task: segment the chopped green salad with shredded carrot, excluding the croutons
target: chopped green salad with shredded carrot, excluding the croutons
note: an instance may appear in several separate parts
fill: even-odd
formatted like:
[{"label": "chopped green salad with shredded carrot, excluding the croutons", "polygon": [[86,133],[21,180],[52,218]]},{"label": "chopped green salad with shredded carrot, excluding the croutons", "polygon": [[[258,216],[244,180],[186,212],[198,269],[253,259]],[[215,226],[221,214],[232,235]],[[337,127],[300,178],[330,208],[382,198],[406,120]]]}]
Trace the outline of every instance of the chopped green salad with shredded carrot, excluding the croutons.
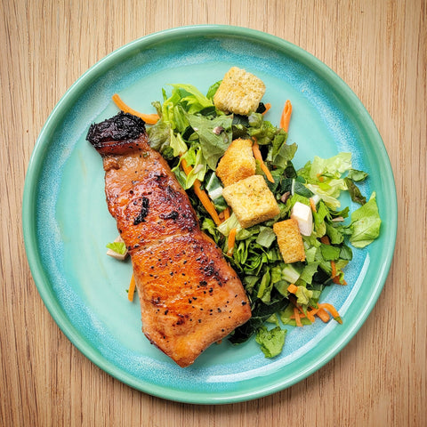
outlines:
[{"label": "chopped green salad with shredded carrot, excluding the croutons", "polygon": [[[264,355],[272,358],[282,351],[286,325],[311,325],[317,318],[342,322],[332,305],[320,302],[322,291],[326,286],[346,285],[344,270],[353,248],[363,248],[379,236],[381,219],[375,192],[368,199],[361,194],[359,182],[367,179],[367,173],[352,168],[350,153],[315,156],[296,169],[297,145],[287,144],[286,131],[265,119],[261,102],[247,116],[215,108],[220,84],[206,94],[193,85],[171,85],[170,93],[163,89],[163,101],[153,102],[159,119],[148,126],[149,143],[171,165],[188,192],[201,229],[222,248],[246,289],[252,318],[230,334],[230,342],[246,342],[254,335]],[[265,178],[279,207],[274,218],[249,228],[242,228],[230,211],[215,173],[231,141],[238,138],[257,142],[262,161],[256,160],[255,174]],[[209,196],[221,223],[206,210],[195,183]],[[359,204],[358,209],[350,212],[349,207],[341,207],[342,191]],[[312,229],[302,236],[305,260],[286,263],[273,225],[289,219],[297,203],[310,207]]]}]

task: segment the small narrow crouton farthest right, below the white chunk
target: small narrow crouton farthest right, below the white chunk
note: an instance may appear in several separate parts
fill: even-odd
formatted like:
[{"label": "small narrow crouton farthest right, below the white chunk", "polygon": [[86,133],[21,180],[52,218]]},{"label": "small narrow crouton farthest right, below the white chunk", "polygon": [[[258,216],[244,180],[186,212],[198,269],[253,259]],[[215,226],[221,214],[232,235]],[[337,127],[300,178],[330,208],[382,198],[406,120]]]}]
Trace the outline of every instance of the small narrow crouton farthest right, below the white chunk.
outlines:
[{"label": "small narrow crouton farthest right, below the white chunk", "polygon": [[273,231],[278,237],[278,247],[286,264],[305,260],[304,243],[296,220],[276,222]]}]

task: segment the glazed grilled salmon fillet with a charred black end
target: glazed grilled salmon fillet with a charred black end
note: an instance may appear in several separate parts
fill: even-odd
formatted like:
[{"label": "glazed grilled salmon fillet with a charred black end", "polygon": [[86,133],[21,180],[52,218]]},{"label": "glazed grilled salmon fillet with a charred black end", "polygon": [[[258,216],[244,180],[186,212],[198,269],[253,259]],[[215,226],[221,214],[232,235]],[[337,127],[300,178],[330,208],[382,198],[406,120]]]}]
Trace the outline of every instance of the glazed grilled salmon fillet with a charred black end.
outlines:
[{"label": "glazed grilled salmon fillet with a charred black end", "polygon": [[142,331],[180,367],[251,317],[245,290],[203,233],[187,193],[149,147],[144,122],[123,112],[91,125],[109,213],[133,264]]}]

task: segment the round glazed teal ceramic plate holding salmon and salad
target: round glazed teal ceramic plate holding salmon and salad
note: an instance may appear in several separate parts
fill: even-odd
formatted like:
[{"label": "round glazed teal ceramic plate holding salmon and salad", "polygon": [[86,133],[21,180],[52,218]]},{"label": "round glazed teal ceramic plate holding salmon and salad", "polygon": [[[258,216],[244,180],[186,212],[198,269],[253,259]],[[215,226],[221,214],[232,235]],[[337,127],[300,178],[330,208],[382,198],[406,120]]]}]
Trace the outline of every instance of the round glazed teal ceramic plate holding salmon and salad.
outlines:
[{"label": "round glazed teal ceramic plate holding salmon and salad", "polygon": [[[224,340],[188,368],[150,345],[141,333],[139,302],[127,301],[129,262],[106,256],[117,237],[104,196],[101,157],[85,141],[89,125],[111,117],[119,93],[134,109],[154,112],[162,87],[190,83],[202,92],[231,66],[246,68],[267,86],[263,101],[278,124],[293,102],[294,164],[315,155],[353,153],[369,173],[362,191],[377,192],[381,237],[354,251],[348,286],[325,299],[340,310],[335,322],[288,328],[283,353],[265,359],[254,340]],[[356,206],[351,206],[356,207]],[[52,318],[88,359],[146,393],[182,402],[216,404],[255,399],[314,373],[357,333],[381,293],[391,265],[397,225],[396,193],[383,141],[367,110],[331,69],[275,36],[246,28],[196,26],[145,36],[112,52],[70,87],[53,109],[34,149],[25,182],[23,228],[28,262]],[[54,355],[52,355],[54,357]]]}]

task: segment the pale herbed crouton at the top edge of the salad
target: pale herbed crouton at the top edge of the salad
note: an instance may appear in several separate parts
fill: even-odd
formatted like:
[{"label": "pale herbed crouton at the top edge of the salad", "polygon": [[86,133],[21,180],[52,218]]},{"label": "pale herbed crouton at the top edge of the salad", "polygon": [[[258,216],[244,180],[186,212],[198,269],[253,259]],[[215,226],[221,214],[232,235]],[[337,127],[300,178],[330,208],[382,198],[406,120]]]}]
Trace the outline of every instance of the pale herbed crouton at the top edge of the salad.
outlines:
[{"label": "pale herbed crouton at the top edge of the salad", "polygon": [[214,95],[217,109],[247,116],[256,111],[265,93],[262,80],[244,69],[232,67]]}]

